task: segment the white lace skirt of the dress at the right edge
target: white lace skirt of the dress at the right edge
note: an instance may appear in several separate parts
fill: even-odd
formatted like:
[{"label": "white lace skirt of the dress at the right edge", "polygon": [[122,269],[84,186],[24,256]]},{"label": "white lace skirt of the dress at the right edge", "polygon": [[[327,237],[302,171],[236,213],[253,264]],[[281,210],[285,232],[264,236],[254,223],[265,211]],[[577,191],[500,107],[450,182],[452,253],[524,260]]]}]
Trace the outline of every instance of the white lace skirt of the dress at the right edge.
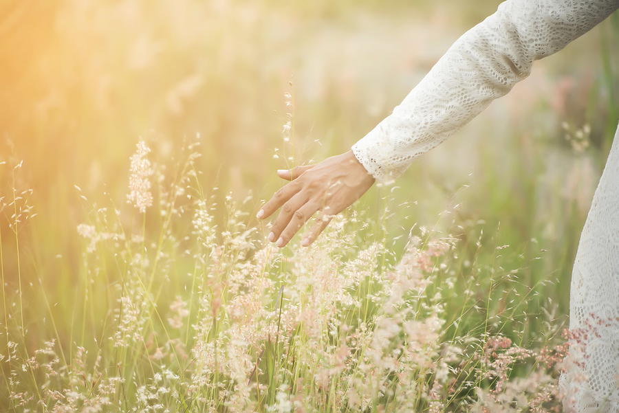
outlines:
[{"label": "white lace skirt of the dress at the right edge", "polygon": [[619,413],[619,128],[580,235],[569,328],[565,412]]}]

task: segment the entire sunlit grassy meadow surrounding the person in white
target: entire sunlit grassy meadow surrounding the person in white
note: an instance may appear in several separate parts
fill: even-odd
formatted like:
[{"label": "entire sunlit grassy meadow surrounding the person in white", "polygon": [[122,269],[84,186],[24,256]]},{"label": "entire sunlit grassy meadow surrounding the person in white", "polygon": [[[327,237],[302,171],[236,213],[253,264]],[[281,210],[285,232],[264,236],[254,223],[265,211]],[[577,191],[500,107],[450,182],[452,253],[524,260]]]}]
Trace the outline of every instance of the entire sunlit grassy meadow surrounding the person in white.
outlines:
[{"label": "entire sunlit grassy meadow surrounding the person in white", "polygon": [[255,218],[498,3],[2,3],[0,410],[561,411],[618,14],[311,247]]}]

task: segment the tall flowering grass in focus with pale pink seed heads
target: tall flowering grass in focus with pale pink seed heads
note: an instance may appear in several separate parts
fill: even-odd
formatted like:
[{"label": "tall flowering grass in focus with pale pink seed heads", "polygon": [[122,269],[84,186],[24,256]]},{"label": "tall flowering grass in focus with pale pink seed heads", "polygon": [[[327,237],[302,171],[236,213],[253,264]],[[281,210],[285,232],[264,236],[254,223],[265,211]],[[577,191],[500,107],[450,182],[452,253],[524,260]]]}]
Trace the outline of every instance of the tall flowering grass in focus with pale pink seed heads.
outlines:
[{"label": "tall flowering grass in focus with pale pink seed heads", "polygon": [[[226,197],[226,221],[215,224],[217,205],[197,179],[198,148],[195,142],[183,151],[172,178],[168,168],[151,165],[140,142],[127,208],[81,195],[91,212],[75,228],[83,253],[80,277],[63,295],[69,311],[50,305],[40,280],[27,295],[44,300],[46,310],[26,327],[21,288],[5,291],[12,310],[8,351],[0,356],[3,408],[440,412],[557,405],[561,326],[549,308],[545,331],[523,342],[531,297],[512,298],[517,269],[499,266],[508,246],[496,243],[498,232],[492,267],[478,262],[480,243],[473,262],[459,257],[463,237],[476,227],[443,237],[413,228],[397,258],[376,236],[384,222],[356,212],[334,221],[310,248],[297,241],[275,249],[262,241],[265,228],[248,227],[250,199],[237,205]],[[154,194],[151,179],[159,183]],[[356,231],[360,226],[376,228]],[[61,320],[67,313],[69,323]],[[66,331],[58,329],[63,324]]]}]

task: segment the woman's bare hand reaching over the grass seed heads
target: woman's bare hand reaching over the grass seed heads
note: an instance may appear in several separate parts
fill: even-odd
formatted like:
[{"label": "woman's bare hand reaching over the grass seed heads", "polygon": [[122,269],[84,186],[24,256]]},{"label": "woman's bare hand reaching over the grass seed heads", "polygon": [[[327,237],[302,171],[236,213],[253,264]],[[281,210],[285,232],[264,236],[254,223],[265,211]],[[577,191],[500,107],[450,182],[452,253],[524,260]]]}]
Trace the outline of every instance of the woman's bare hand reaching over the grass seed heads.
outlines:
[{"label": "woman's bare hand reaching over the grass seed heads", "polygon": [[291,182],[277,191],[257,216],[259,219],[268,218],[281,207],[269,234],[269,241],[277,241],[275,245],[280,248],[314,212],[321,211],[301,243],[303,247],[312,244],[332,218],[365,194],[375,181],[352,150],[327,158],[320,164],[278,170],[277,175]]}]

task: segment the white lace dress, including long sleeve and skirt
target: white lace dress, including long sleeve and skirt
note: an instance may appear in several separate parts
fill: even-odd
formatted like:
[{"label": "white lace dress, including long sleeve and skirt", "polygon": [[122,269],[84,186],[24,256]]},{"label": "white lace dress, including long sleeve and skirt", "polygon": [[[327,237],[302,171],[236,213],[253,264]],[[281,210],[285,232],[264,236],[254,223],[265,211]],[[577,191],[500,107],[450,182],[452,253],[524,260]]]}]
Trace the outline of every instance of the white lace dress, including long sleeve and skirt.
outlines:
[{"label": "white lace dress, including long sleeve and skirt", "polygon": [[[379,181],[398,177],[496,98],[619,8],[619,0],[508,0],[454,43],[402,104],[353,146]],[[561,379],[569,412],[619,413],[619,129],[574,264],[570,329],[583,354]],[[572,359],[572,361],[574,361]]]}]

